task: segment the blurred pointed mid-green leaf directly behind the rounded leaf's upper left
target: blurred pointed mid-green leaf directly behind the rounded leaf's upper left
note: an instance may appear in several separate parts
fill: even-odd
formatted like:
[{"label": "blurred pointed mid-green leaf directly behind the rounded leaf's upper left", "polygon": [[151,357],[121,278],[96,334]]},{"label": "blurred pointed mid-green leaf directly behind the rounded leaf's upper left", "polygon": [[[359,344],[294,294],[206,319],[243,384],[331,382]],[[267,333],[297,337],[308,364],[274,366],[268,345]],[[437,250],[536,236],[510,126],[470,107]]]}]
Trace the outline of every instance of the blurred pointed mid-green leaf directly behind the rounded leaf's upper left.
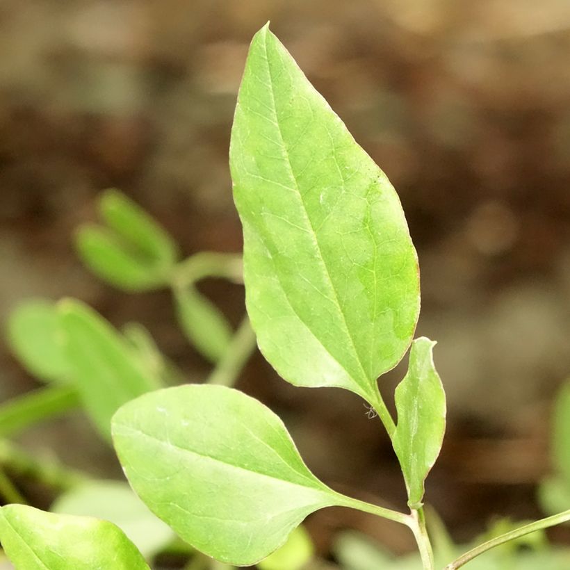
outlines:
[{"label": "blurred pointed mid-green leaf directly behind the rounded leaf's upper left", "polygon": [[76,300],[60,302],[67,360],[83,406],[99,432],[111,437],[111,417],[125,402],[161,387],[133,348],[96,311]]}]

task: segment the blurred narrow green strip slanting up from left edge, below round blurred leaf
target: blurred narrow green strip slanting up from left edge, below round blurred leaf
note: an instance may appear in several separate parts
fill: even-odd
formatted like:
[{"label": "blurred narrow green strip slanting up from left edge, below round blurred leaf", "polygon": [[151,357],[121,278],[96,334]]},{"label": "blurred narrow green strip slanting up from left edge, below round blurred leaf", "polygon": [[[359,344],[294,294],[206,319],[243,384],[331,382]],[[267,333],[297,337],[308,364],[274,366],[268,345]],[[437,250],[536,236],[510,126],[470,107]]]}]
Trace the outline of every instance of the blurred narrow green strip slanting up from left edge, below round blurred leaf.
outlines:
[{"label": "blurred narrow green strip slanting up from left edge, below round blurred leaf", "polygon": [[8,400],[0,406],[0,437],[12,436],[78,405],[79,396],[72,386],[56,384]]}]

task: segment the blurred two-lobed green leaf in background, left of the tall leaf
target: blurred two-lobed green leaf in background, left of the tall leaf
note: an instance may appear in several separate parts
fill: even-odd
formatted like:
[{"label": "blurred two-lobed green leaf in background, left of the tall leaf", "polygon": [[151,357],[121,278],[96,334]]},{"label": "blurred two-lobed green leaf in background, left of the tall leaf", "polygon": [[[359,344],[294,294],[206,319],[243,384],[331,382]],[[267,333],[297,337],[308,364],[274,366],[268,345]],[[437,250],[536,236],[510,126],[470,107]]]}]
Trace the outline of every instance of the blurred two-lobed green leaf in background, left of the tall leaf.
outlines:
[{"label": "blurred two-lobed green leaf in background, left of the tall leaf", "polygon": [[167,284],[178,258],[176,243],[138,204],[118,190],[99,202],[106,227],[86,224],[76,234],[83,262],[101,279],[126,291]]}]

